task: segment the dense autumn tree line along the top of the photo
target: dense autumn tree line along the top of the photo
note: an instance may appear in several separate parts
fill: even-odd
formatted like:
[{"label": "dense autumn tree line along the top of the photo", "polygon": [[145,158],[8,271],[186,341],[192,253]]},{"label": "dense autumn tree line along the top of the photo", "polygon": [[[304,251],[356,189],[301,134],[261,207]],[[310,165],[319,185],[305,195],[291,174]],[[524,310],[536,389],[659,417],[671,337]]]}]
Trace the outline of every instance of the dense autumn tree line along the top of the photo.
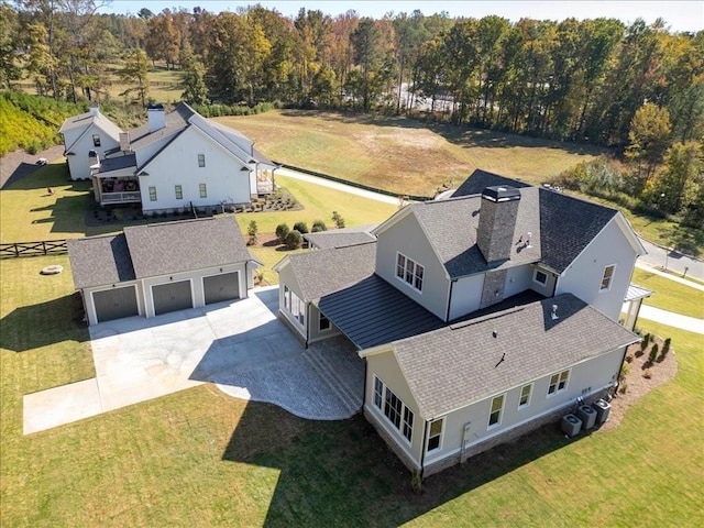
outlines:
[{"label": "dense autumn tree line along the top of the photo", "polygon": [[160,62],[179,72],[184,100],[199,108],[424,114],[615,147],[628,174],[592,167],[581,186],[605,190],[617,180],[619,193],[649,207],[686,213],[697,204],[694,217],[704,218],[704,31],[673,33],[663,20],[641,19],[512,23],[414,11],[375,20],[302,8],[287,18],[261,4],[133,15],[101,7],[3,1],[0,87],[29,79],[57,100],[101,102],[117,72],[122,96],[144,105],[150,62]]}]

